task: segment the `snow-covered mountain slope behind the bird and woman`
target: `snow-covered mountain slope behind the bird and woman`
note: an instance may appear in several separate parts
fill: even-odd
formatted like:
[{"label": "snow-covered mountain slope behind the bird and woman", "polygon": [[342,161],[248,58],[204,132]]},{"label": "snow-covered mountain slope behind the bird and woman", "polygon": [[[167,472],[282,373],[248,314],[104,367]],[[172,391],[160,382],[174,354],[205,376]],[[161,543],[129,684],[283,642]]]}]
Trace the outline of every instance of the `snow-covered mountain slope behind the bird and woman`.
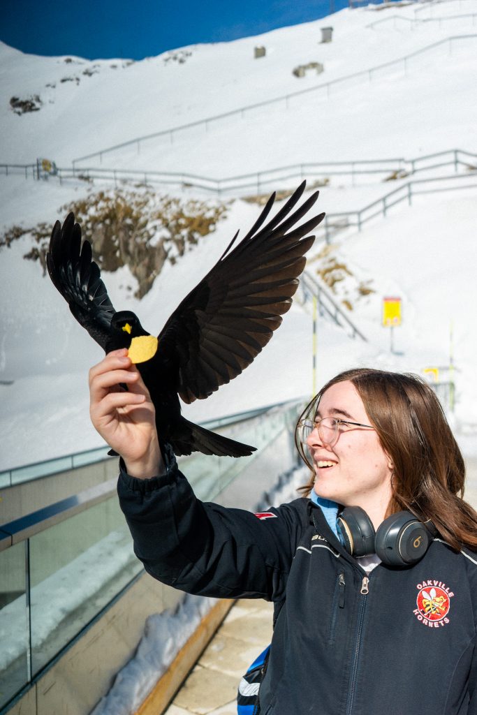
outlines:
[{"label": "snow-covered mountain slope behind the bird and woman", "polygon": [[[0,44],[0,162],[31,164],[47,157],[69,167],[77,157],[134,137],[363,70],[369,71],[328,89],[177,132],[173,140],[150,139],[139,151],[132,145],[109,152],[102,164],[99,157],[80,163],[223,178],[299,162],[416,159],[455,148],[475,153],[476,17],[477,0],[368,6],[138,62],[36,57]],[[333,41],[326,44],[320,41],[324,26],[333,26]],[[257,45],[266,49],[260,59],[254,59]],[[293,74],[297,66],[313,62],[323,64],[321,74],[313,68],[305,77]],[[21,113],[19,102],[31,102],[36,111]],[[369,339],[350,340],[320,319],[318,383],[357,364],[421,373],[448,365],[452,350],[458,398],[453,419],[461,432],[472,434],[477,425],[477,177],[472,187],[473,174],[459,170],[470,179],[467,188],[454,182],[461,188],[421,194],[411,206],[401,202],[386,217],[375,217],[361,232],[348,228],[338,233],[326,259],[317,258],[324,248],[323,240],[318,241],[308,270],[313,274],[324,260],[338,266],[335,277],[343,280],[335,283],[337,300],[351,305],[350,317]],[[451,173],[453,166],[426,177],[437,171]],[[350,176],[328,172],[320,178],[328,184],[321,189],[318,208],[330,213],[362,209],[400,185],[373,174],[357,175],[354,186]],[[272,188],[297,183],[277,181]],[[104,185],[60,183],[55,177],[33,181],[10,172],[0,177],[0,228],[64,219],[61,207]],[[435,186],[426,184],[426,189]],[[189,188],[187,195],[205,194]],[[256,204],[235,200],[217,232],[174,267],[166,265],[140,305],[124,288],[132,280],[127,269],[105,275],[115,307],[137,310],[143,325],[159,332],[237,228],[243,235],[259,210]],[[76,324],[39,265],[22,259],[29,247],[31,242],[22,238],[0,251],[0,380],[13,380],[0,385],[0,470],[100,443],[89,425],[87,370],[101,359],[101,351]],[[388,330],[380,325],[385,295],[403,302],[394,353]],[[240,378],[185,412],[200,420],[310,394],[311,345],[311,315],[297,301],[270,345]],[[470,440],[463,444],[471,449]]]}]

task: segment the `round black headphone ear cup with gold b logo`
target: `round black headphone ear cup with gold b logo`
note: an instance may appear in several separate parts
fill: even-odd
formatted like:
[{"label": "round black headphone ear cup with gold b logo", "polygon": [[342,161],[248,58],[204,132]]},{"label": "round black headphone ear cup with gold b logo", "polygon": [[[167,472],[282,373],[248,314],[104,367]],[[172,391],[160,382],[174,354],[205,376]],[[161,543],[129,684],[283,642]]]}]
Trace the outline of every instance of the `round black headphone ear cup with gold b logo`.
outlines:
[{"label": "round black headphone ear cup with gold b logo", "polygon": [[388,566],[409,566],[423,558],[430,543],[426,526],[409,511],[400,511],[378,527],[375,550]]}]

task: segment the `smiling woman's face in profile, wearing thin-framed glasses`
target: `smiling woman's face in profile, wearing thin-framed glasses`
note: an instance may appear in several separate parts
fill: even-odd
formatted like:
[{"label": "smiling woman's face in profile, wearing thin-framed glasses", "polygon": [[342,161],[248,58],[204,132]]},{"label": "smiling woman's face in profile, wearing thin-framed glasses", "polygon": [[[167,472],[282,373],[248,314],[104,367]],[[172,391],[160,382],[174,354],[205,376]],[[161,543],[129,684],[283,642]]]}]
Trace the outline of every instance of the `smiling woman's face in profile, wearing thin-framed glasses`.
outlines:
[{"label": "smiling woman's face in profile, wearing thin-framed glasses", "polygon": [[[370,425],[363,400],[349,380],[332,385],[323,394],[315,419],[325,417]],[[318,496],[343,506],[360,506],[380,521],[392,493],[392,463],[375,430],[339,425],[338,439],[329,445],[315,428],[307,443]]]}]

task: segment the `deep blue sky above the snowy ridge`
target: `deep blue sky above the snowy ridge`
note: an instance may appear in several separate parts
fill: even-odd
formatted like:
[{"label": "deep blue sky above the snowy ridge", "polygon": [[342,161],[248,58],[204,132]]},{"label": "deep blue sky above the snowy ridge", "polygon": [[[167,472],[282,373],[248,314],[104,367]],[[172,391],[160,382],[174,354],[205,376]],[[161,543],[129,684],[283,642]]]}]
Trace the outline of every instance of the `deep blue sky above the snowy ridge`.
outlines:
[{"label": "deep blue sky above the snowy ridge", "polygon": [[0,0],[0,40],[30,54],[143,59],[319,19],[330,7],[347,5],[347,0]]}]

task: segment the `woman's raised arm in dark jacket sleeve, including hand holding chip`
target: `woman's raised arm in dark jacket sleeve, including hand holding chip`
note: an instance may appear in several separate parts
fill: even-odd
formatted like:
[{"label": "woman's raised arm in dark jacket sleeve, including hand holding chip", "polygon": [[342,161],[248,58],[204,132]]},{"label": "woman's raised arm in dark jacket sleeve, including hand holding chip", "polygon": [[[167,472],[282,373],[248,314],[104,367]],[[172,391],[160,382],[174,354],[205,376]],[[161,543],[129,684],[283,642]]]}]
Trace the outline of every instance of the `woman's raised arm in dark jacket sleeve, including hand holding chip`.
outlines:
[{"label": "woman's raised arm in dark jacket sleeve, including hand holding chip", "polygon": [[260,521],[198,500],[170,447],[161,455],[154,405],[127,350],[90,370],[89,389],[92,423],[124,460],[119,503],[147,572],[204,596],[281,598],[302,529],[296,509]]}]

